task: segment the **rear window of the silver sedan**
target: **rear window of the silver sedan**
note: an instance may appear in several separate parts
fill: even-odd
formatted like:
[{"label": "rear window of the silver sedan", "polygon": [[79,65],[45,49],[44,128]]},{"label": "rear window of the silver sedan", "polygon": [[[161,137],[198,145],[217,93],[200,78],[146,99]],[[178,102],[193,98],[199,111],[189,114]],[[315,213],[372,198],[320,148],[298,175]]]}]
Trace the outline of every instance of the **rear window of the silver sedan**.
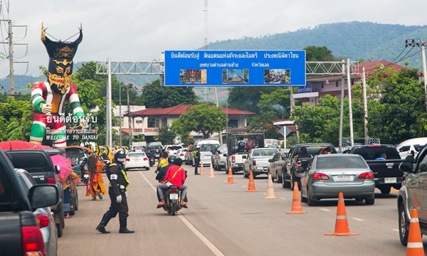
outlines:
[{"label": "rear window of the silver sedan", "polygon": [[319,157],[317,159],[317,169],[367,169],[367,164],[361,157],[358,156],[334,156],[334,157]]}]

